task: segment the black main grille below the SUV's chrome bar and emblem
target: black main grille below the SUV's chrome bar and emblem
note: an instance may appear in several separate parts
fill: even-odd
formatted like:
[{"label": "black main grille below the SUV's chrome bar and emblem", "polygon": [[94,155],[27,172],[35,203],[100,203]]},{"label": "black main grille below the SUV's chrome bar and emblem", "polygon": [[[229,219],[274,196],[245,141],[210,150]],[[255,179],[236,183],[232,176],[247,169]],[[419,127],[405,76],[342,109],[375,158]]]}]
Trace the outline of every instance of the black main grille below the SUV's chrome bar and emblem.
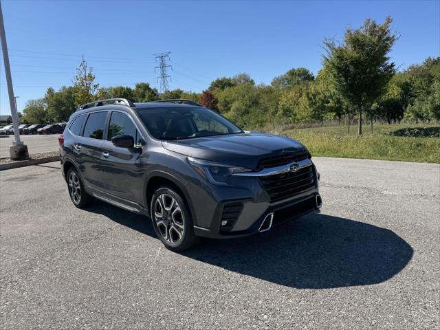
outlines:
[{"label": "black main grille below the SUV's chrome bar and emblem", "polygon": [[315,186],[313,166],[301,168],[296,173],[267,175],[260,180],[270,201],[281,201]]}]

